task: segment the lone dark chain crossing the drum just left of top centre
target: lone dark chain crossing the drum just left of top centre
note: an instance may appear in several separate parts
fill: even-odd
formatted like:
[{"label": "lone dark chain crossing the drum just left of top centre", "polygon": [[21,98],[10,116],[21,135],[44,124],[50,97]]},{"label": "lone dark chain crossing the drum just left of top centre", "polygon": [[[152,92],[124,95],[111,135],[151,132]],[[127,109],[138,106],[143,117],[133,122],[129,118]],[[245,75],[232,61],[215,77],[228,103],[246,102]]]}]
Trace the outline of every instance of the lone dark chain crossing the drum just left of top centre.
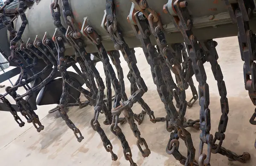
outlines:
[{"label": "lone dark chain crossing the drum just left of top centre", "polygon": [[[130,73],[131,73],[130,78],[135,80],[135,82],[137,83],[136,87],[138,87],[136,91],[131,92],[132,94],[131,97],[129,97],[129,100],[127,100],[125,103],[127,104],[130,102],[140,103],[142,108],[149,115],[152,123],[156,123],[157,121],[163,121],[163,118],[154,117],[154,112],[150,109],[148,104],[145,103],[144,100],[142,99],[143,94],[148,91],[148,88],[145,85],[143,78],[140,76],[140,71],[136,65],[137,60],[135,57],[134,49],[129,49],[127,43],[125,43],[125,40],[122,37],[121,32],[118,29],[114,0],[106,0],[106,14],[107,16],[106,18],[104,18],[104,21],[107,23],[106,30],[111,36],[111,40],[114,42],[115,49],[120,50],[122,52],[122,55],[130,69]],[[134,83],[131,83],[131,84],[134,84]],[[132,103],[130,105],[132,105]],[[137,117],[139,117],[139,119],[136,118],[135,120],[137,120],[138,123],[140,124],[140,121],[143,120],[144,112],[138,114]]]}]

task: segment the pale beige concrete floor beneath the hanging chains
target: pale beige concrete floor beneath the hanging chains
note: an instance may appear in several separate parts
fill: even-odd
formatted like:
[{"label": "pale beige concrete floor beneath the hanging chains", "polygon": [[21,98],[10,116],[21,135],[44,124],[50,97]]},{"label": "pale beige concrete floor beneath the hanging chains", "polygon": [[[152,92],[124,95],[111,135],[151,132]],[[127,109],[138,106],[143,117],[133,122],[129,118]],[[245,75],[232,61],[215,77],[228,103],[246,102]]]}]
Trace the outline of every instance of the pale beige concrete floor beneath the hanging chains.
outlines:
[{"label": "pale beige concrete floor beneath the hanging chains", "polygon": [[[237,37],[228,37],[216,39],[216,41],[218,42],[218,63],[224,75],[230,106],[229,123],[223,146],[238,154],[249,152],[251,160],[246,164],[242,164],[230,162],[227,160],[227,157],[222,155],[212,154],[211,165],[256,166],[256,149],[254,148],[256,126],[249,123],[255,106],[253,106],[247,91],[244,89],[243,62],[239,52],[238,40]],[[145,60],[142,49],[137,48],[136,55],[137,65],[148,86],[148,92],[144,94],[143,99],[154,110],[156,117],[163,117],[166,115],[166,112],[157,94],[156,86],[152,81],[150,68]],[[128,67],[122,57],[121,61],[126,76]],[[102,64],[98,63],[96,66],[104,80]],[[218,129],[221,116],[220,97],[209,63],[206,63],[204,66],[210,89],[211,134],[214,135]],[[15,78],[12,78],[12,80],[15,81]],[[195,79],[194,82],[197,87],[198,83]],[[6,81],[5,85],[8,86],[9,82]],[[125,85],[129,96],[130,85],[126,77]],[[3,92],[4,89],[0,89],[0,93]],[[24,90],[20,90],[19,93],[23,94]],[[189,100],[192,96],[190,90],[187,90],[186,94],[187,100]],[[13,103],[13,100],[10,101]],[[53,107],[54,105],[38,107],[36,112],[41,119],[41,123],[45,126],[45,129],[40,133],[36,132],[32,124],[26,123],[23,128],[18,127],[9,112],[0,112],[0,166],[129,166],[129,162],[123,156],[122,146],[118,138],[114,137],[110,132],[109,126],[102,124],[102,128],[113,144],[113,152],[119,157],[118,160],[112,161],[111,155],[105,151],[99,135],[93,131],[89,123],[93,117],[93,107],[87,106],[83,109],[73,107],[68,112],[70,119],[84,136],[84,140],[81,143],[77,142],[73,132],[59,117],[58,112],[48,114],[48,110]],[[135,113],[139,113],[142,110],[137,104],[132,109]],[[192,108],[187,109],[186,118],[199,118],[198,101]],[[99,122],[102,123],[103,120],[104,117],[101,115]],[[121,128],[131,146],[133,159],[138,165],[180,166],[179,162],[172,155],[167,155],[165,152],[169,140],[169,133],[165,129],[165,123],[153,124],[149,121],[149,117],[146,116],[143,123],[139,126],[141,136],[145,138],[151,150],[151,155],[146,158],[143,158],[139,152],[136,146],[136,138],[128,124],[122,125]],[[197,149],[196,154],[198,154],[200,131],[195,129],[188,129],[188,131],[192,134],[194,146]],[[204,149],[207,149],[207,147],[204,146]],[[186,156],[186,147],[182,140],[180,140],[180,152]],[[196,159],[198,159],[198,155],[196,155]]]}]

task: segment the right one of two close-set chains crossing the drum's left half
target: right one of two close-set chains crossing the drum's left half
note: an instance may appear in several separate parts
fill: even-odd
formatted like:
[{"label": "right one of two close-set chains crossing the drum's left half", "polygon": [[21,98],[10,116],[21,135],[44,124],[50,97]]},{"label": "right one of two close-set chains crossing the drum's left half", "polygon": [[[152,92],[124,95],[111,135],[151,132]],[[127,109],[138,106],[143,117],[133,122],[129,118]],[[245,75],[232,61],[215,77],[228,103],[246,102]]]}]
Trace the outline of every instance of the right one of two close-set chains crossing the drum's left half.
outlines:
[{"label": "right one of two close-set chains crossing the drum's left half", "polygon": [[[90,72],[96,78],[96,82],[99,86],[97,101],[95,104],[93,104],[95,106],[94,107],[95,114],[94,114],[94,118],[91,120],[91,126],[101,136],[103,145],[106,151],[110,152],[112,155],[112,160],[117,160],[117,156],[112,152],[113,146],[111,145],[110,141],[105,135],[105,132],[100,127],[98,122],[99,112],[103,111],[106,117],[105,124],[111,124],[111,118],[112,118],[111,112],[107,109],[107,107],[105,106],[105,103],[103,102],[105,86],[103,84],[102,78],[99,76],[99,72],[97,71],[96,67],[93,65],[92,61],[90,60],[89,54],[86,53],[82,40],[79,39],[80,33],[75,29],[75,26],[73,26],[72,11],[70,9],[68,1],[63,0],[62,3],[63,3],[64,18],[66,20],[66,23],[68,21],[67,24],[69,25],[65,33],[65,36],[67,37],[67,40],[69,40],[70,44],[73,46],[74,50],[76,51],[76,56],[80,56],[84,60],[85,66],[88,66],[88,69],[90,69]],[[51,5],[52,8],[53,6],[55,5]],[[61,22],[59,23],[61,24]]]}]

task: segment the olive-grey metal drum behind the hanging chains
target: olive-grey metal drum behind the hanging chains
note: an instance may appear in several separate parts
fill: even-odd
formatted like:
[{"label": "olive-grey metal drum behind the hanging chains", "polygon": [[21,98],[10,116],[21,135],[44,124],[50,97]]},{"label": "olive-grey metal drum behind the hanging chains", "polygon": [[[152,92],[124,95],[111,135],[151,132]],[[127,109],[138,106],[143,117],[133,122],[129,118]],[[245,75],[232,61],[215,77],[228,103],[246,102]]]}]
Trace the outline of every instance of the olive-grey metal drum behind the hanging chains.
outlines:
[{"label": "olive-grey metal drum behind the hanging chains", "polygon": [[[180,32],[175,28],[169,14],[163,12],[163,6],[168,3],[172,4],[172,0],[147,0],[148,5],[160,15],[160,19],[165,27],[166,39],[168,43],[178,43],[183,41],[183,37]],[[26,9],[26,17],[28,19],[28,25],[22,35],[22,39],[26,42],[30,37],[32,40],[38,35],[39,38],[43,38],[44,32],[47,31],[50,36],[55,31],[55,25],[50,11],[50,4],[53,0],[40,0],[39,3],[34,3],[30,9]],[[102,43],[107,50],[114,50],[114,44],[105,29],[102,29],[101,23],[104,16],[105,1],[104,0],[70,0],[70,6],[73,11],[75,19],[75,25],[78,29],[81,29],[84,17],[88,17],[90,25],[96,30],[96,32],[102,38]],[[61,0],[58,1],[60,9],[62,11]],[[233,25],[230,20],[227,8],[224,2],[210,3],[206,0],[187,0],[189,13],[192,15],[193,26],[195,28],[194,33],[200,39],[211,39],[217,37],[226,37],[237,35],[236,25]],[[115,0],[116,15],[118,21],[118,27],[122,31],[125,41],[131,48],[139,47],[140,41],[134,35],[130,23],[127,21],[127,17],[130,12],[131,2],[130,0]],[[201,6],[201,7],[198,7]],[[199,10],[200,8],[200,10]],[[62,13],[62,12],[61,12]],[[214,15],[214,20],[209,20],[208,16]],[[61,23],[67,28],[63,15],[61,16]],[[15,29],[20,27],[21,19],[17,18],[15,23]],[[255,25],[255,24],[254,24]],[[200,29],[198,29],[200,28]],[[152,35],[151,35],[152,36]],[[81,36],[84,42],[87,44],[87,52],[96,52],[96,48],[86,38]],[[152,43],[155,43],[154,37],[152,37]],[[67,46],[67,55],[74,54],[73,49]]]}]

